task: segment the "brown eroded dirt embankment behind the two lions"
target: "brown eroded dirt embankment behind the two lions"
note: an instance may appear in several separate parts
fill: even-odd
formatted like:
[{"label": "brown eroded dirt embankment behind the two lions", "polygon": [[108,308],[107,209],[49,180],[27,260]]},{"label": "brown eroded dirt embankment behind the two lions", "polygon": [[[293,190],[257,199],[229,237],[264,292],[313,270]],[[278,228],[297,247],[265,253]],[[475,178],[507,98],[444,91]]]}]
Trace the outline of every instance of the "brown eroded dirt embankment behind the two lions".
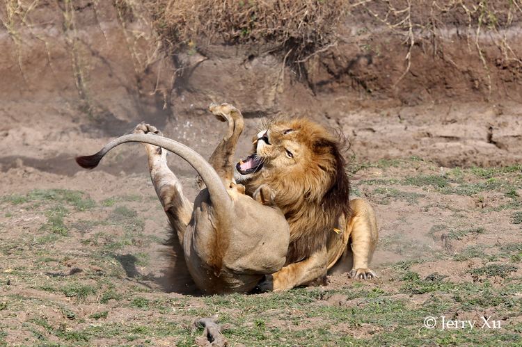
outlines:
[{"label": "brown eroded dirt embankment behind the two lions", "polygon": [[[206,107],[222,101],[244,111],[248,134],[279,113],[340,127],[358,159],[520,161],[521,12],[497,6],[492,26],[472,7],[433,17],[427,4],[395,2],[393,11],[379,1],[353,8],[331,45],[286,65],[280,52],[219,38],[166,52],[148,11],[127,1],[8,5],[0,10],[0,163],[6,170],[21,158],[72,174],[64,158],[141,120],[208,155],[217,131],[206,126]],[[141,170],[132,162],[109,170]]]}]

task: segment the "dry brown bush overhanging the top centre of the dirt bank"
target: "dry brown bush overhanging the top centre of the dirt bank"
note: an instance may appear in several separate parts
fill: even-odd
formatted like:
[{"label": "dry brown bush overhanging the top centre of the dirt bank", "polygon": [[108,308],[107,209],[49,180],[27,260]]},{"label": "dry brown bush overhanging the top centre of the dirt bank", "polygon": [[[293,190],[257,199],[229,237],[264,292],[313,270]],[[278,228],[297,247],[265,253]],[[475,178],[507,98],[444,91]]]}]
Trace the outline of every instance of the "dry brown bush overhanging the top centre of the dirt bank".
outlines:
[{"label": "dry brown bush overhanging the top centre of the dirt bank", "polygon": [[221,41],[262,45],[288,62],[335,40],[343,0],[151,0],[156,27],[171,47]]}]

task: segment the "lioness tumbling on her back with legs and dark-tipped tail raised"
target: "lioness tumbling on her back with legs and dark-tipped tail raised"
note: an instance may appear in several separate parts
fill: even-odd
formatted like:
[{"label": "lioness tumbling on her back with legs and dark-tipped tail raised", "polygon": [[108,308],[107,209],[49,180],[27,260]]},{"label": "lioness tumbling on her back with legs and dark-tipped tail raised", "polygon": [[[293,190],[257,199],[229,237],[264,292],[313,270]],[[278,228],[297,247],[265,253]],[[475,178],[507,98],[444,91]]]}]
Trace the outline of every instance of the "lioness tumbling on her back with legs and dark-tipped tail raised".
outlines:
[{"label": "lioness tumbling on her back with legs and dark-tipped tail raised", "polygon": [[[232,180],[232,156],[243,129],[239,110],[228,104],[211,105],[210,111],[228,130],[207,163],[190,148],[168,140],[150,124],[139,124],[134,134],[121,136],[93,156],[77,162],[93,168],[113,147],[135,141],[145,145],[150,178],[171,226],[171,243],[179,243],[189,273],[205,293],[251,291],[263,275],[285,264],[290,230],[280,209],[274,206],[268,187],[256,200]],[[145,135],[143,135],[145,134]],[[166,148],[182,156],[202,177],[201,191],[191,203],[180,182],[168,168]],[[212,164],[212,165],[209,165]]]}]

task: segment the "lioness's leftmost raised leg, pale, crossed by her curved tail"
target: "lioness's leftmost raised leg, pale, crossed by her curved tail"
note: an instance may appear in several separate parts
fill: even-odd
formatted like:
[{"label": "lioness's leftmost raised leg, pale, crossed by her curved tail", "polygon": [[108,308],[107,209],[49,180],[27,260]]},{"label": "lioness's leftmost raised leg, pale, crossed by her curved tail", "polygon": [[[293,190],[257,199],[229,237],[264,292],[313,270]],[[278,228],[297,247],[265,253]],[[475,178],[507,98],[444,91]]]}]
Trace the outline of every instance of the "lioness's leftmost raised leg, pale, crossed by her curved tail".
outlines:
[{"label": "lioness's leftmost raised leg, pale, crossed by her curved tail", "polygon": [[[161,132],[149,124],[142,123],[134,129],[135,134],[150,132],[161,136]],[[159,197],[159,202],[163,205],[180,244],[183,245],[183,236],[192,216],[193,204],[183,195],[180,181],[168,168],[167,151],[154,145],[144,145],[148,155],[150,179]]]}]

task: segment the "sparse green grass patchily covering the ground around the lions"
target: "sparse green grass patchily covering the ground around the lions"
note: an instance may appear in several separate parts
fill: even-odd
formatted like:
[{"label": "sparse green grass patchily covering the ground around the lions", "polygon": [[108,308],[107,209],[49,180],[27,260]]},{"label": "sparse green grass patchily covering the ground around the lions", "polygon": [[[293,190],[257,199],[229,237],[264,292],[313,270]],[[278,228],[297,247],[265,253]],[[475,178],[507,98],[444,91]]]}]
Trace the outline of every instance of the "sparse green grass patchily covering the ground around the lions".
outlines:
[{"label": "sparse green grass patchily covering the ground around the lions", "polygon": [[[492,215],[519,218],[516,217],[520,211],[516,204],[520,200],[517,193],[520,182],[514,172],[507,169],[487,172],[473,168],[445,169],[445,174],[439,175],[440,168],[425,166],[419,170],[423,175],[399,176],[397,168],[420,165],[425,166],[413,159],[381,161],[371,167],[380,168],[382,172],[387,170],[390,175],[376,175],[372,177],[378,179],[354,183],[361,196],[369,196],[375,202],[400,200],[405,202],[402,207],[422,202],[422,208],[410,209],[420,213],[427,211],[426,201],[447,200],[449,202],[444,203],[454,207],[451,197],[441,194],[489,197],[482,191],[491,190],[495,201],[504,204],[506,209],[513,209]],[[379,170],[371,171],[381,175]],[[401,187],[405,184],[411,187]],[[416,193],[410,193],[412,191]],[[156,275],[134,276],[125,271],[127,265],[140,266],[140,273],[162,275],[160,269],[152,268],[157,265],[157,259],[151,258],[155,253],[147,247],[150,242],[161,241],[158,236],[161,232],[145,235],[141,213],[141,204],[157,206],[156,197],[153,201],[132,196],[111,197],[88,207],[87,195],[71,192],[32,191],[1,198],[2,213],[13,213],[16,218],[22,213],[28,216],[34,213],[45,216],[46,222],[40,230],[37,226],[33,230],[36,234],[27,239],[0,240],[1,255],[9,255],[6,259],[15,262],[27,259],[26,263],[9,266],[12,270],[9,273],[0,271],[0,289],[4,292],[0,298],[0,346],[6,344],[3,341],[13,341],[13,336],[7,334],[15,329],[25,334],[26,340],[21,344],[34,346],[106,343],[193,346],[196,337],[203,334],[202,329],[193,328],[193,321],[214,314],[219,316],[223,334],[232,346],[503,346],[522,343],[522,323],[514,323],[522,311],[519,298],[522,287],[515,272],[521,266],[522,244],[512,237],[516,227],[506,230],[511,233],[511,243],[506,243],[505,238],[499,239],[500,243],[505,243],[503,245],[494,241],[486,243],[484,240],[494,236],[492,230],[472,227],[480,224],[472,223],[473,220],[464,222],[441,204],[440,208],[449,212],[440,215],[437,211],[435,216],[432,213],[429,216],[433,218],[416,231],[427,234],[432,226],[428,234],[438,236],[433,244],[431,240],[427,245],[411,241],[411,237],[404,234],[404,225],[418,220],[404,218],[404,215],[392,218],[393,224],[389,223],[388,227],[393,232],[383,233],[379,250],[402,255],[404,260],[379,266],[377,271],[383,274],[382,282],[349,281],[342,286],[253,295],[182,296],[164,293],[157,285],[152,286],[152,276]],[[135,202],[141,202],[137,211]],[[88,208],[93,209],[93,213],[79,213]],[[387,208],[378,207],[379,210]],[[466,207],[455,211],[464,212]],[[484,208],[482,211],[490,210]],[[474,209],[473,213],[482,211]],[[63,237],[66,233],[74,237]],[[453,243],[458,245],[457,250],[463,249],[454,254],[433,248],[433,245],[440,245],[441,233],[450,240],[460,240]],[[487,237],[474,237],[484,234]],[[473,236],[469,238],[473,243],[466,244],[468,236]],[[441,261],[447,266],[444,271]],[[466,264],[455,261],[466,261]],[[83,272],[69,275],[71,263]],[[143,271],[141,266],[145,267]],[[457,273],[448,272],[452,269]],[[6,284],[7,280],[11,281],[10,286]],[[24,289],[24,292],[10,293],[17,289]],[[29,289],[31,291],[26,291]],[[428,330],[422,325],[425,316],[467,317],[476,312],[494,312],[493,319],[506,319],[509,323],[496,332]],[[126,321],[126,316],[133,319]],[[22,322],[18,324],[16,317],[22,317]]]}]

